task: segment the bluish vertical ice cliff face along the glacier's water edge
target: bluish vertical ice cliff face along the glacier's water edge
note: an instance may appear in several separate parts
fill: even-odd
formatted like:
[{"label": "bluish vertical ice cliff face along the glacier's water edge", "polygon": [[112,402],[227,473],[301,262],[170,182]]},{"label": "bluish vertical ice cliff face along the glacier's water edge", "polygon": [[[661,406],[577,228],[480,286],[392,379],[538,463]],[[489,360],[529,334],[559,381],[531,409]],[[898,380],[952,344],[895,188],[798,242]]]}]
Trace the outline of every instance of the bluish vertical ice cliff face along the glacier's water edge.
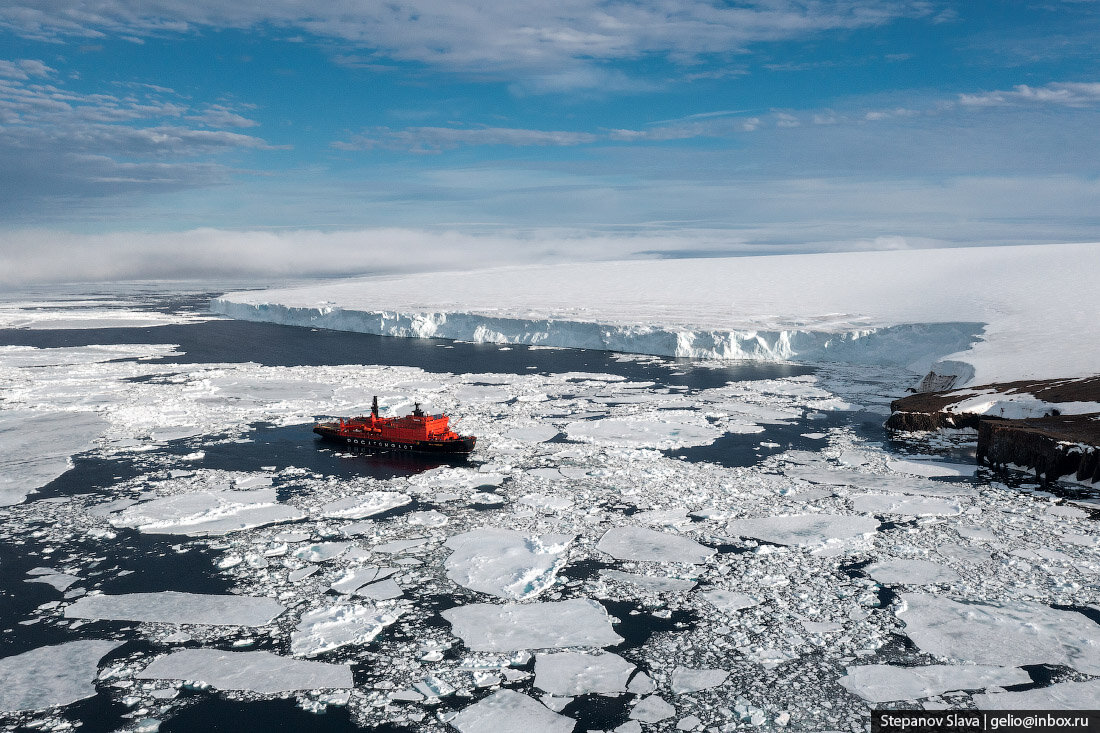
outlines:
[{"label": "bluish vertical ice cliff face along the glacier's water edge", "polygon": [[338,307],[295,307],[273,303],[240,303],[216,298],[210,309],[239,320],[306,326],[338,331],[407,338],[442,338],[476,343],[597,349],[693,359],[850,362],[889,364],[925,372],[957,374],[966,382],[972,371],[963,362],[939,361],[979,340],[983,325],[970,321],[902,324],[844,332],[812,329],[685,329],[659,325],[615,325],[591,321],[505,318],[468,313],[397,313]]}]

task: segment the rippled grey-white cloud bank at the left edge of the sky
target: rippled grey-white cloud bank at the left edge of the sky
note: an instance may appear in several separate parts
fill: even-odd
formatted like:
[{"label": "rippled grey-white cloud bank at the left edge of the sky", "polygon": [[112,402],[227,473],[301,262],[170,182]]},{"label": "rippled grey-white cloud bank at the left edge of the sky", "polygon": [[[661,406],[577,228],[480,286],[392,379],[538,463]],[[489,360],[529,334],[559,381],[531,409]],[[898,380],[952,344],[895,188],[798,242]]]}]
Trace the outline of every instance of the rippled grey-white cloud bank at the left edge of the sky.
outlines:
[{"label": "rippled grey-white cloud bank at the left edge of the sky", "polygon": [[[252,123],[224,105],[194,108],[170,89],[127,85],[121,95],[82,94],[42,62],[0,62],[0,211],[32,203],[224,183],[209,160],[266,141],[218,128]],[[197,123],[189,127],[185,122]],[[213,129],[211,129],[213,128]]]}]

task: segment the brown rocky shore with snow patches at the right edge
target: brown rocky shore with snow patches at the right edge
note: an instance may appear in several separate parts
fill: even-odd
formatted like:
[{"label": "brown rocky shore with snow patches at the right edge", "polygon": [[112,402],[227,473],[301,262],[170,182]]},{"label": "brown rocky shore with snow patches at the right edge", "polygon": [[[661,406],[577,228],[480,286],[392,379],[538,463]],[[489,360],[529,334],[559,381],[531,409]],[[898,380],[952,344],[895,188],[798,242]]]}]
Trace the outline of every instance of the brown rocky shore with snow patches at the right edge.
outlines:
[{"label": "brown rocky shore with snow patches at the right edge", "polygon": [[[990,402],[1009,409],[979,412],[977,405]],[[1013,416],[1016,404],[1031,414]],[[1100,376],[922,392],[890,406],[890,430],[977,430],[978,462],[993,469],[1026,468],[1044,483],[1059,478],[1100,482]]]}]

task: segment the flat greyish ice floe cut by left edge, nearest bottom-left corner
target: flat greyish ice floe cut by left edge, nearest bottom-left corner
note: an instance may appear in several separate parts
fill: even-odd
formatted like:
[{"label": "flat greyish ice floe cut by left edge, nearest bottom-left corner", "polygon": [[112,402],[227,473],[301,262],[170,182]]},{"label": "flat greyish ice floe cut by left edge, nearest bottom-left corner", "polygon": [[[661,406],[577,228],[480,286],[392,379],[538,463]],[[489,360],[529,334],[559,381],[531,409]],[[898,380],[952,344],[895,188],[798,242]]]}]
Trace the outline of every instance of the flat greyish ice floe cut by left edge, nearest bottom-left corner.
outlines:
[{"label": "flat greyish ice floe cut by left edge, nearest bottom-left corner", "polygon": [[0,712],[45,710],[95,696],[99,660],[120,646],[66,642],[0,659]]}]

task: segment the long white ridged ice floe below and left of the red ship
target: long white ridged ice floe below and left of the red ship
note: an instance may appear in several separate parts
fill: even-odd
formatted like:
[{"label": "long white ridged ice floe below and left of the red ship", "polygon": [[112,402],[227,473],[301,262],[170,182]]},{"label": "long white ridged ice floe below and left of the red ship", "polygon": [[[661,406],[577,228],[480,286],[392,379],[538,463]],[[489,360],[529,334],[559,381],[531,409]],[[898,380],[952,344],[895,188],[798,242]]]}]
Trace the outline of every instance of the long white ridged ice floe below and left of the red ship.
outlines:
[{"label": "long white ridged ice floe below and left of the red ship", "polygon": [[279,504],[274,489],[257,489],[161,496],[129,506],[109,522],[116,527],[136,527],[148,534],[204,537],[295,522],[305,516],[293,506]]}]

